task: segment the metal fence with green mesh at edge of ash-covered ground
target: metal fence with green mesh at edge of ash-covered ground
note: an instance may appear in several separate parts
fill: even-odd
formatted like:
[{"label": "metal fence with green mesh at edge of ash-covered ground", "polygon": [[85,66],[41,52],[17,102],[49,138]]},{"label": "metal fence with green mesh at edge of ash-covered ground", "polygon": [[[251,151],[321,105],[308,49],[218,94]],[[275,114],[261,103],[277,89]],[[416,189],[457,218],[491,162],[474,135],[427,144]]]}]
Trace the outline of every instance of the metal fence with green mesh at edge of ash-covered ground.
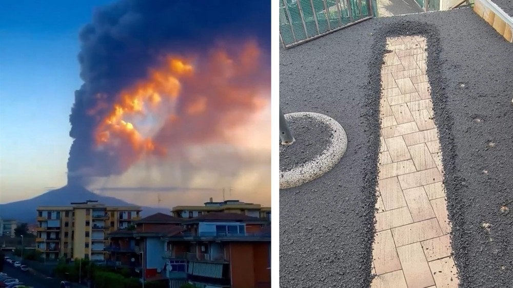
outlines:
[{"label": "metal fence with green mesh at edge of ash-covered ground", "polygon": [[284,48],[372,18],[373,0],[280,0]]}]

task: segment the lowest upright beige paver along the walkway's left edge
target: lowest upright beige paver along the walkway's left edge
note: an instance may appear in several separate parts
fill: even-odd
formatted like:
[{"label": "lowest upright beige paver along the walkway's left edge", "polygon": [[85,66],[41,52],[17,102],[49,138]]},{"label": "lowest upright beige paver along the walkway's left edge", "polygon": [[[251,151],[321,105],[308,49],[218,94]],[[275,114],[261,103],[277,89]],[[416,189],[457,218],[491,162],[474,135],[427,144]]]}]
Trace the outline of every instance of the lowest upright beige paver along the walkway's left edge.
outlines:
[{"label": "lowest upright beige paver along the walkway's left edge", "polygon": [[390,230],[376,233],[372,248],[372,261],[374,261],[376,274],[381,275],[401,270],[401,263]]}]

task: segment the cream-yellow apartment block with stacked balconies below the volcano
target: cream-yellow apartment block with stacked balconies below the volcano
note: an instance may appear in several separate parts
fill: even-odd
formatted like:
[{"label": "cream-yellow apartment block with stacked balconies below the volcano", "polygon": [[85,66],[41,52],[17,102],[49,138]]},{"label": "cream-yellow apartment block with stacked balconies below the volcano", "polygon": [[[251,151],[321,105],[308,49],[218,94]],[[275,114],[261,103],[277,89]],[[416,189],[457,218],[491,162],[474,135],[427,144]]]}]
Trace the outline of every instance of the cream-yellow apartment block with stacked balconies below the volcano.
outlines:
[{"label": "cream-yellow apartment block with stacked balconies below the volcano", "polygon": [[36,247],[46,259],[105,260],[107,233],[127,229],[140,218],[141,207],[106,206],[97,201],[69,206],[37,207]]}]

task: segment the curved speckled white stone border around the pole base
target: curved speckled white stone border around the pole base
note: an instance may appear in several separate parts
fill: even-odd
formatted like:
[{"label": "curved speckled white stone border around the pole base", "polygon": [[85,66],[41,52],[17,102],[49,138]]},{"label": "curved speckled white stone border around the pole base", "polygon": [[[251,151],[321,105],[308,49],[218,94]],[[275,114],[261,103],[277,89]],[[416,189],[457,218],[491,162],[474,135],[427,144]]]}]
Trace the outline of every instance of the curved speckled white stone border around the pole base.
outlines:
[{"label": "curved speckled white stone border around the pole base", "polygon": [[[319,178],[339,163],[347,148],[346,131],[333,118],[324,114],[313,112],[297,112],[285,115],[287,121],[293,118],[310,117],[313,120],[327,124],[333,133],[331,142],[321,154],[302,165],[290,170],[280,170],[280,189],[288,189],[301,186],[307,182]],[[293,145],[293,144],[292,144]]]}]

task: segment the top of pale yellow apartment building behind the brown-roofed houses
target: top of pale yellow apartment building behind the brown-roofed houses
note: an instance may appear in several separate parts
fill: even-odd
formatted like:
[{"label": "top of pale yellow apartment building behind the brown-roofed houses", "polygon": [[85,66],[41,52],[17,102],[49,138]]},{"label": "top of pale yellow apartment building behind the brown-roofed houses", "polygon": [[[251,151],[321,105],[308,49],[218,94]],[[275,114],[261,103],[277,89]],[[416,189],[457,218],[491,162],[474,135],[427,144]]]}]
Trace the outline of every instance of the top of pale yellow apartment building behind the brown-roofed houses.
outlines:
[{"label": "top of pale yellow apartment building behind the brown-roofed houses", "polygon": [[271,219],[271,207],[262,207],[260,204],[244,203],[239,200],[226,200],[223,202],[205,202],[204,206],[176,206],[172,215],[179,218],[194,218],[212,212],[241,213],[261,219]]}]

